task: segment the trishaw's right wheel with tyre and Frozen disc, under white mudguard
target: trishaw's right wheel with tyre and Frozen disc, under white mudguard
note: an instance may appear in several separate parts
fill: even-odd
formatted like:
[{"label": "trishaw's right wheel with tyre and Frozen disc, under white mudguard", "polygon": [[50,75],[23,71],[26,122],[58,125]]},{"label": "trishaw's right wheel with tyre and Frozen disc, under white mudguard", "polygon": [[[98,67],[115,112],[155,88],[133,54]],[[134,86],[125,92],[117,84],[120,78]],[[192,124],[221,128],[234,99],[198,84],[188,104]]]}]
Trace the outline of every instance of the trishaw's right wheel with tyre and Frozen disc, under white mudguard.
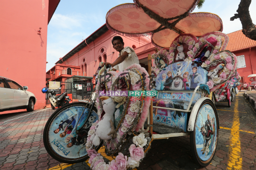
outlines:
[{"label": "trishaw's right wheel with tyre and Frozen disc, under white mudguard", "polygon": [[[213,123],[212,123],[213,122]],[[218,143],[218,114],[210,99],[200,105],[194,130],[190,133],[192,155],[197,164],[206,167],[211,163]]]}]

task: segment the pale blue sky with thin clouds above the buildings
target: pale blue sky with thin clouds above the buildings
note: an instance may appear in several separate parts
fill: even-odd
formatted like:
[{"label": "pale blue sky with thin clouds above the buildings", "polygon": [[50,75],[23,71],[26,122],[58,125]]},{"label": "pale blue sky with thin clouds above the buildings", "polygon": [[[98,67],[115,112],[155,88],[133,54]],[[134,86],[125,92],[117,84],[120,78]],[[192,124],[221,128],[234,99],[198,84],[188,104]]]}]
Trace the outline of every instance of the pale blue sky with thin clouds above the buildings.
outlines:
[{"label": "pale blue sky with thin clouds above the buildings", "polygon": [[[61,0],[48,25],[47,35],[47,68],[52,68],[60,57],[64,57],[83,39],[105,24],[109,9],[122,3],[133,3],[133,0]],[[211,12],[221,17],[223,32],[228,34],[242,29],[239,19],[230,21],[236,13],[240,0],[206,0],[203,8],[193,12]],[[256,11],[250,5],[250,16],[256,23]]]}]

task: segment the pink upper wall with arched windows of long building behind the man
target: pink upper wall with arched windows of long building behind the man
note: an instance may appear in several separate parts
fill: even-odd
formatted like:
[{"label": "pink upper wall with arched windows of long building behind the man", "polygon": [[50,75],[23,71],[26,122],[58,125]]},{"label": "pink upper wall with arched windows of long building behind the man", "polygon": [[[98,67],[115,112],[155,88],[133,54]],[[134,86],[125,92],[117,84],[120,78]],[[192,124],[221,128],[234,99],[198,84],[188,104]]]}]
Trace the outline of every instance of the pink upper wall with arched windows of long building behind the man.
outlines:
[{"label": "pink upper wall with arched windows of long building behind the man", "polygon": [[[81,68],[80,76],[84,75],[88,77],[93,77],[93,74],[95,74],[100,61],[105,62],[106,60],[107,62],[112,63],[118,57],[119,52],[117,52],[113,48],[113,45],[111,43],[112,38],[116,35],[118,34],[114,34],[113,32],[108,30],[99,38],[97,38],[93,42],[90,42],[88,44],[90,48],[88,46],[85,46],[78,53],[74,54],[69,59],[64,61],[63,64],[79,66]],[[124,40],[125,46],[133,46],[134,48],[141,47],[151,42],[150,38],[147,37],[121,37]],[[151,45],[150,47],[153,48],[153,45]],[[111,54],[112,52],[114,53]]]}]

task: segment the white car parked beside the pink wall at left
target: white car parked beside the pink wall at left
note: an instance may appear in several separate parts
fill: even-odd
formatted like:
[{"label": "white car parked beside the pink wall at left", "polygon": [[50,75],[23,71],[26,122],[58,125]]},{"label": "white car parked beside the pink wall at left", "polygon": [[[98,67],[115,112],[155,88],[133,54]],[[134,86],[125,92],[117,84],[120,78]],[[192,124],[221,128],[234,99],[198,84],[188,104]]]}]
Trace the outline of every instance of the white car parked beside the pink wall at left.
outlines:
[{"label": "white car parked beside the pink wall at left", "polygon": [[0,76],[0,112],[26,109],[34,111],[35,95],[12,79]]}]

